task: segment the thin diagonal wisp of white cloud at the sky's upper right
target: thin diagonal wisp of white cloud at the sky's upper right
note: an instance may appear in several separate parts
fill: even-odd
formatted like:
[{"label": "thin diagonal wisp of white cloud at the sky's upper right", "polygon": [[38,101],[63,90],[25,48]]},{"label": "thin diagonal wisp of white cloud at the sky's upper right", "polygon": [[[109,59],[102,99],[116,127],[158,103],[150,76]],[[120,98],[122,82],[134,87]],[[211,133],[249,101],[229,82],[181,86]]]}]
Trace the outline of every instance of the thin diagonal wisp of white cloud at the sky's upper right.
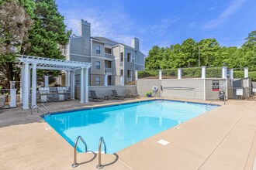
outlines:
[{"label": "thin diagonal wisp of white cloud at the sky's upper right", "polygon": [[230,15],[233,15],[237,10],[246,2],[246,0],[235,0],[232,2],[216,19],[212,19],[211,21],[207,22],[204,29],[212,29],[216,28],[217,26],[222,25],[224,22],[227,22]]}]

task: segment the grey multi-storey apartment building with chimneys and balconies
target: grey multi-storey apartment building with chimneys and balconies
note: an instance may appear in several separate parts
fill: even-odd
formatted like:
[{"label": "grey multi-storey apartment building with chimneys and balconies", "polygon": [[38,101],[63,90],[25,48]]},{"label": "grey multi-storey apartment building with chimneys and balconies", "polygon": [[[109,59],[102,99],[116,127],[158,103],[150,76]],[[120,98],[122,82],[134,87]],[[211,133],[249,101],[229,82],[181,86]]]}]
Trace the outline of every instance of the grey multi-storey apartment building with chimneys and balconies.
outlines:
[{"label": "grey multi-storey apartment building with chimneys and balconies", "polygon": [[140,52],[139,39],[132,39],[131,46],[127,46],[91,36],[91,24],[84,20],[79,24],[79,35],[69,39],[64,55],[67,60],[92,63],[90,86],[124,85],[134,80],[135,70],[144,70],[145,55]]}]

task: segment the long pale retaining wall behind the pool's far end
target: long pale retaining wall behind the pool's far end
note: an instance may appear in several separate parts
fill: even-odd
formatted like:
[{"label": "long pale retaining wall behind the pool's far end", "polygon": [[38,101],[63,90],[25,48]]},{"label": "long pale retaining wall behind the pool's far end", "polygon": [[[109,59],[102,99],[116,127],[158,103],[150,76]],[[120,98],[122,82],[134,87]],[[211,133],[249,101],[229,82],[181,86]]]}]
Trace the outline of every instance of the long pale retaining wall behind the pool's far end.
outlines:
[{"label": "long pale retaining wall behind the pool's far end", "polygon": [[[219,91],[213,91],[213,80],[219,80],[220,91],[225,91],[227,94],[227,85],[230,86],[230,83],[227,83],[226,79],[137,80],[137,90],[140,95],[144,96],[147,91],[152,91],[152,87],[157,86],[160,89],[162,85],[164,88],[161,92],[162,97],[213,100],[219,97],[220,93]],[[168,87],[189,87],[195,88],[195,90],[178,90],[178,88],[174,90],[168,89]]]}]

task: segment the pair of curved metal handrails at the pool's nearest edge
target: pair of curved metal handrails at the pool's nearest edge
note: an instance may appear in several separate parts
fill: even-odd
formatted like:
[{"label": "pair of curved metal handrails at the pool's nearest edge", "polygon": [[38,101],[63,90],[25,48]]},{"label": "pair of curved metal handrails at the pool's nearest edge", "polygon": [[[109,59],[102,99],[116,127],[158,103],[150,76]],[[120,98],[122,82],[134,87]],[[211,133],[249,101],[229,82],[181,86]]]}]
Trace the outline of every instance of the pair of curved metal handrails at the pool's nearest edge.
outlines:
[{"label": "pair of curved metal handrails at the pool's nearest edge", "polygon": [[[87,144],[85,142],[85,140],[83,138],[81,138],[81,136],[78,136],[78,138],[76,138],[75,142],[74,142],[74,162],[72,164],[72,167],[73,168],[76,168],[78,167],[78,162],[77,162],[77,146],[78,146],[78,141],[79,139],[83,142],[83,144],[85,145],[85,153],[88,151],[87,149]],[[103,168],[103,165],[102,165],[102,142],[104,144],[104,152],[106,154],[106,142],[104,141],[104,138],[101,137],[99,138],[99,152],[98,152],[98,155],[99,155],[99,163],[98,165],[96,166],[96,168],[98,169],[101,169]]]}]

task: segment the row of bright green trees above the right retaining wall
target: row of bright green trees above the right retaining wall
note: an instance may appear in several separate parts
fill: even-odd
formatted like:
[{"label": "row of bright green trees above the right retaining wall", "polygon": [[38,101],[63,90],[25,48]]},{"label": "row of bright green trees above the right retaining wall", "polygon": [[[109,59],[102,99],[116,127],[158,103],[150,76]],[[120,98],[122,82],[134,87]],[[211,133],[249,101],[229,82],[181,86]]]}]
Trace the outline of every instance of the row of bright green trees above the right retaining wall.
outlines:
[{"label": "row of bright green trees above the right retaining wall", "polygon": [[256,31],[248,34],[244,44],[220,46],[216,39],[185,39],[169,47],[153,46],[145,60],[145,70],[164,70],[197,66],[249,67],[256,71]]}]

